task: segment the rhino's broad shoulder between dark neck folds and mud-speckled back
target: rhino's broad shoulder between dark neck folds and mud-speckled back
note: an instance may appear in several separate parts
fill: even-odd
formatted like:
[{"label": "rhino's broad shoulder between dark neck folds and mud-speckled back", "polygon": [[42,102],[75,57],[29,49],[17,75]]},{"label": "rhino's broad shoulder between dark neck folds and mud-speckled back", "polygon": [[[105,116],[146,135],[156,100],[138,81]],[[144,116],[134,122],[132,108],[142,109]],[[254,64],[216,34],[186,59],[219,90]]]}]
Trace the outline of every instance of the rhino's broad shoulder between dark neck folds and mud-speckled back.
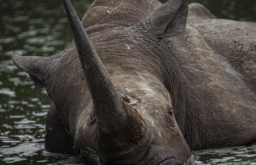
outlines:
[{"label": "rhino's broad shoulder between dark neck folds and mud-speckled back", "polygon": [[256,96],[240,73],[229,61],[222,61],[192,26],[166,42],[185,84],[186,121],[178,120],[178,124],[190,147],[228,147],[253,140]]}]

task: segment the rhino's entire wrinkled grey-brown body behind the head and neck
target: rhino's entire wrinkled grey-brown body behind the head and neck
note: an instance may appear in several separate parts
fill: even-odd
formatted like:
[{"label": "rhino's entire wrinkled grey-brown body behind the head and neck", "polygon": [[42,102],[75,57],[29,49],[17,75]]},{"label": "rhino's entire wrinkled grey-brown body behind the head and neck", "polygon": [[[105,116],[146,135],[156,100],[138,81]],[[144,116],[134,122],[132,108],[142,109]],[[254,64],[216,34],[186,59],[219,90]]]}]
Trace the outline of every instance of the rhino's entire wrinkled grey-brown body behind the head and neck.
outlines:
[{"label": "rhino's entire wrinkled grey-brown body behind the head and neck", "polygon": [[256,23],[216,19],[204,6],[190,4],[186,31],[166,43],[186,88],[176,120],[190,148],[253,142]]}]

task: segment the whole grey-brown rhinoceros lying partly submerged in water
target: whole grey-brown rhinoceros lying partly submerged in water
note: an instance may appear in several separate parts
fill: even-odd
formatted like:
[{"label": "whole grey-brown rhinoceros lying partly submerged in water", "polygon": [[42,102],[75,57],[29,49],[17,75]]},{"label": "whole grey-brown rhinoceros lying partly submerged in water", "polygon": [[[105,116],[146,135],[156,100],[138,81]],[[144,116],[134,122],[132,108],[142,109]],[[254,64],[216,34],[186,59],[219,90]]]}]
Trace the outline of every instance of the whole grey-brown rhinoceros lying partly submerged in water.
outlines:
[{"label": "whole grey-brown rhinoceros lying partly submerged in water", "polygon": [[51,57],[13,55],[52,100],[45,149],[85,164],[182,164],[256,139],[256,23],[187,0],[95,0]]}]

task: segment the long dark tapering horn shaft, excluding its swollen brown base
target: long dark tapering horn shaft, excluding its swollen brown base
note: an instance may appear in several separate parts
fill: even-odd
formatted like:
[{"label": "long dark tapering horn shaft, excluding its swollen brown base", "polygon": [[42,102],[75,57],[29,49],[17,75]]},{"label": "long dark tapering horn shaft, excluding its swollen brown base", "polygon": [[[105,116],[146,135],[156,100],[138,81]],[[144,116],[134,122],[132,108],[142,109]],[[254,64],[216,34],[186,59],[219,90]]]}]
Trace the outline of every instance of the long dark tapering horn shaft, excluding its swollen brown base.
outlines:
[{"label": "long dark tapering horn shaft, excluding its swollen brown base", "polygon": [[120,124],[126,123],[126,112],[123,110],[122,100],[114,88],[114,84],[111,82],[100,57],[98,57],[98,53],[91,44],[70,0],[63,1],[74,34],[78,57],[94,102],[98,124],[103,130],[115,129],[117,125],[120,126]]}]

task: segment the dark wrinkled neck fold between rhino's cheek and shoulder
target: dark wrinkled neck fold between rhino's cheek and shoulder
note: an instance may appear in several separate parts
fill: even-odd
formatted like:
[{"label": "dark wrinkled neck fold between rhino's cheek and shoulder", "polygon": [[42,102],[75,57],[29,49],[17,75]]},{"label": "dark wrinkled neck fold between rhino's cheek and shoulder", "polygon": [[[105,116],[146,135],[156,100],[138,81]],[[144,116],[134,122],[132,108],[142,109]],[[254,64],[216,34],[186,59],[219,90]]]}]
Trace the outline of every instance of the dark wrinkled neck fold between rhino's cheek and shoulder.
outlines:
[{"label": "dark wrinkled neck fold between rhino's cheek and shoulder", "polygon": [[[175,38],[176,37],[174,37],[173,40]],[[164,65],[164,71],[166,73],[164,84],[170,92],[175,111],[174,115],[182,135],[186,138],[190,147],[201,146],[202,136],[199,135],[199,132],[204,132],[205,135],[208,135],[204,124],[204,120],[206,120],[207,117],[203,116],[206,114],[203,113],[206,107],[200,107],[202,101],[198,99],[197,95],[194,95],[194,91],[190,87],[190,81],[187,80],[187,75],[184,70],[182,70],[181,61],[183,59],[180,59],[180,50],[174,49],[174,46],[171,47],[170,43],[172,42],[170,41],[171,40],[164,39],[160,43],[162,48],[162,65]],[[177,41],[174,43],[177,44],[180,42]]]}]

